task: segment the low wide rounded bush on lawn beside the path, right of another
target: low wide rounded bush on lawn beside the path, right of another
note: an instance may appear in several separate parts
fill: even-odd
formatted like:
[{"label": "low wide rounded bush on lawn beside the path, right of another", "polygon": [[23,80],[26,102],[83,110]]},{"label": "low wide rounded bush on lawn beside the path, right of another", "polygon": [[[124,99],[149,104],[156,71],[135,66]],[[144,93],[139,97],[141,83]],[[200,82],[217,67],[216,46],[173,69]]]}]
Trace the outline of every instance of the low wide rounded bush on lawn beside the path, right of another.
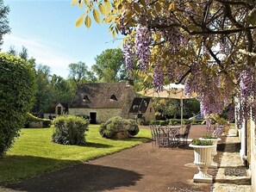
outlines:
[{"label": "low wide rounded bush on lawn beside the path, right of another", "polygon": [[108,139],[128,138],[136,135],[139,131],[136,121],[122,119],[120,116],[110,118],[99,127],[99,133]]}]

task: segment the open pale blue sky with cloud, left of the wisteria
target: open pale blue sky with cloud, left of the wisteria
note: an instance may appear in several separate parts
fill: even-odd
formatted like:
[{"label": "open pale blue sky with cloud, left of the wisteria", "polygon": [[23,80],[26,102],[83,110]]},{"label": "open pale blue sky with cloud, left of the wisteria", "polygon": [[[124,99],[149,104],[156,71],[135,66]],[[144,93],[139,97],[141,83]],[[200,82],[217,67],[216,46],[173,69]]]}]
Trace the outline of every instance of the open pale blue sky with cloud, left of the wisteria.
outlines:
[{"label": "open pale blue sky with cloud, left of the wisteria", "polygon": [[48,65],[52,74],[67,77],[68,65],[84,62],[91,67],[95,58],[107,48],[121,47],[107,25],[92,22],[76,28],[75,22],[84,13],[84,7],[72,6],[72,0],[3,0],[9,5],[11,33],[3,37],[2,51],[10,46],[21,51],[28,48],[28,56],[37,64]]}]

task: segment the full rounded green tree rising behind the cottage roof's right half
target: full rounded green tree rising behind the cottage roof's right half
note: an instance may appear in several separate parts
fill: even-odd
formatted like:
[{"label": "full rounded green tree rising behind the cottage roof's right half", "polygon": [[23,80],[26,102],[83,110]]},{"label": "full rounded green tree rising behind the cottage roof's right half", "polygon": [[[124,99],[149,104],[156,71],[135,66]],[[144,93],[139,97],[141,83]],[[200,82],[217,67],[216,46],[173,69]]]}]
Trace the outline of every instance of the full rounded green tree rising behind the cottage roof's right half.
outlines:
[{"label": "full rounded green tree rising behind the cottage roof's right half", "polygon": [[127,77],[125,61],[120,48],[107,49],[95,58],[96,65],[91,69],[96,72],[100,82],[118,82]]}]

